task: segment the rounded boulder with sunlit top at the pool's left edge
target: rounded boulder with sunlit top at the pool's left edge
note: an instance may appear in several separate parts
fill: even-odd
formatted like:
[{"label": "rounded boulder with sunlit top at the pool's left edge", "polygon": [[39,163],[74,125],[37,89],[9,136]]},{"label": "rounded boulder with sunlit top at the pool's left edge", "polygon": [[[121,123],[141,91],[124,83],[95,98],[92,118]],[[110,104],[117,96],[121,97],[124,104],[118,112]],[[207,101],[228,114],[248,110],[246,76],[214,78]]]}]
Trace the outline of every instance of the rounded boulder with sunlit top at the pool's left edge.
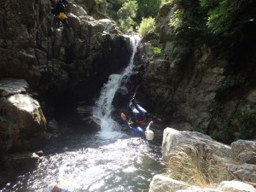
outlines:
[{"label": "rounded boulder with sunlit top at the pool's left edge", "polygon": [[44,113],[23,79],[0,79],[1,155],[38,148],[46,131]]}]

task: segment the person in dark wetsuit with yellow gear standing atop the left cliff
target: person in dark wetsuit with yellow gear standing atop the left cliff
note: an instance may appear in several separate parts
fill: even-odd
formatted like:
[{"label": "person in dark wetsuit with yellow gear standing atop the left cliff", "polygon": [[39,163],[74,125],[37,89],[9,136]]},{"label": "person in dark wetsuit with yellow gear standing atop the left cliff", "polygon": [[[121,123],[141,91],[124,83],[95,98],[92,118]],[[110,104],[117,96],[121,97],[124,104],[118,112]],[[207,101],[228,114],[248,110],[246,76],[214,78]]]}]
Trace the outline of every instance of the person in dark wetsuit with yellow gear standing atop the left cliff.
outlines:
[{"label": "person in dark wetsuit with yellow gear standing atop the left cliff", "polygon": [[51,13],[55,15],[57,27],[61,26],[61,23],[62,23],[63,26],[69,29],[70,26],[67,22],[67,11],[66,11],[68,0],[54,0],[51,3],[52,3]]}]

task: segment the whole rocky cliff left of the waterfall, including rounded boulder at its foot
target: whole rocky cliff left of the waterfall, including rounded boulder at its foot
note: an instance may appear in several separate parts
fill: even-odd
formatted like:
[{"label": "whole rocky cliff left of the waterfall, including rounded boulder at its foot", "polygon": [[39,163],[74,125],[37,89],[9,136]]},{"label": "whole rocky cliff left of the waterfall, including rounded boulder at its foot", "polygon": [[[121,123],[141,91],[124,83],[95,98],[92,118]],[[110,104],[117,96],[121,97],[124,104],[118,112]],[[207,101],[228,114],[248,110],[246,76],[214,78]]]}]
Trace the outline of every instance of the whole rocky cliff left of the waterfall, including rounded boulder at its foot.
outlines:
[{"label": "whole rocky cliff left of the waterfall, including rounded boulder at its foot", "polygon": [[53,108],[93,101],[130,59],[129,38],[113,20],[96,20],[74,1],[67,12],[70,29],[56,27],[48,0],[0,2],[1,158],[39,148]]}]

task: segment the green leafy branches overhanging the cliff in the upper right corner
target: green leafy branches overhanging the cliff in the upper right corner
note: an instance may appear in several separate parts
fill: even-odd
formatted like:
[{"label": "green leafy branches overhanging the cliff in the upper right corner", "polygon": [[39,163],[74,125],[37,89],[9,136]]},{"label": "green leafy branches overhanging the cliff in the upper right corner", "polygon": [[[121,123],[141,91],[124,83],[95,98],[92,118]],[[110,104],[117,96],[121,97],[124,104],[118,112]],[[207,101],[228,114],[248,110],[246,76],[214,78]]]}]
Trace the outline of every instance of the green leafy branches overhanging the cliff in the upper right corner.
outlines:
[{"label": "green leafy branches overhanging the cliff in the upper right corner", "polygon": [[[162,1],[166,2],[166,1]],[[253,0],[172,0],[177,5],[170,24],[175,32],[230,36],[255,20]],[[247,10],[247,11],[245,11]]]}]

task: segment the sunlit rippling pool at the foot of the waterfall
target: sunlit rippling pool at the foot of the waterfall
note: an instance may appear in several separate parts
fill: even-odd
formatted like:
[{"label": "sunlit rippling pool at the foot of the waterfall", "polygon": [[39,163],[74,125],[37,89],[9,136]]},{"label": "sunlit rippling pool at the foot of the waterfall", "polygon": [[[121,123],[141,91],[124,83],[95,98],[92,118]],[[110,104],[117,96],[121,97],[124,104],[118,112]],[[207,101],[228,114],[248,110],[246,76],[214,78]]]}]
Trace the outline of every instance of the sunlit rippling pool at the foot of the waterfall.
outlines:
[{"label": "sunlit rippling pool at the foot of the waterfall", "polygon": [[[44,149],[49,151],[38,169],[10,183],[3,191],[47,191],[49,183],[74,191],[139,191],[148,189],[161,172],[160,146],[123,134],[118,139],[69,136]],[[54,145],[55,144],[55,145]],[[50,150],[50,146],[55,146]],[[68,147],[64,147],[68,146]]]}]

